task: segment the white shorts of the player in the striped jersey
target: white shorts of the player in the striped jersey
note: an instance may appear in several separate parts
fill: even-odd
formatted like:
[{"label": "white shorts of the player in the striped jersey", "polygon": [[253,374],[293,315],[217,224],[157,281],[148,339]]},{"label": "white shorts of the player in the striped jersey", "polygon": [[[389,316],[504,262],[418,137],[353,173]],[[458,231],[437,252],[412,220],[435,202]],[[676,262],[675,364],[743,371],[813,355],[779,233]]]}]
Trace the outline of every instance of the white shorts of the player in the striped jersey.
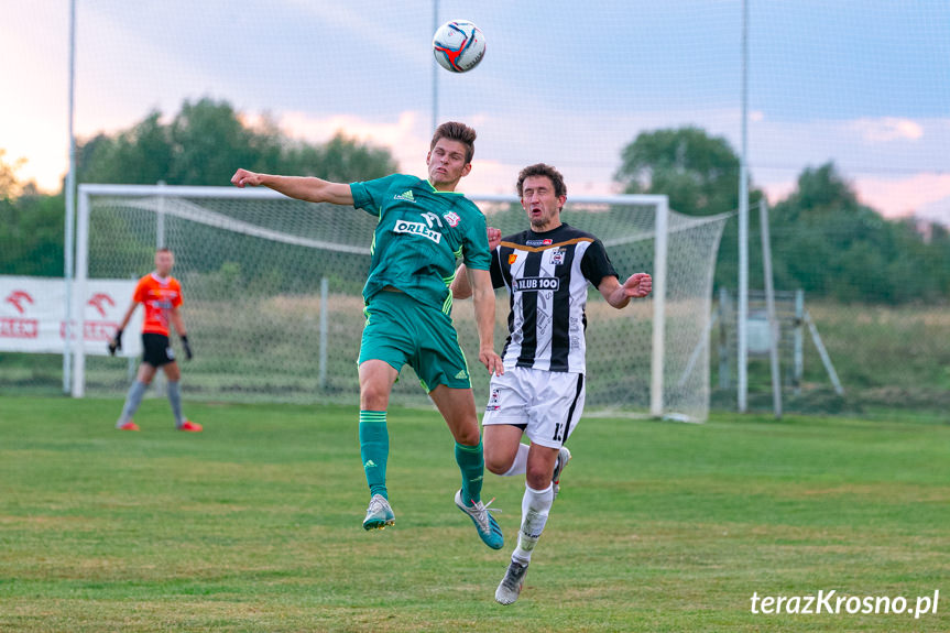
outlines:
[{"label": "white shorts of the player in the striped jersey", "polygon": [[491,379],[482,425],[511,424],[534,444],[560,448],[583,413],[583,374],[515,367]]}]

